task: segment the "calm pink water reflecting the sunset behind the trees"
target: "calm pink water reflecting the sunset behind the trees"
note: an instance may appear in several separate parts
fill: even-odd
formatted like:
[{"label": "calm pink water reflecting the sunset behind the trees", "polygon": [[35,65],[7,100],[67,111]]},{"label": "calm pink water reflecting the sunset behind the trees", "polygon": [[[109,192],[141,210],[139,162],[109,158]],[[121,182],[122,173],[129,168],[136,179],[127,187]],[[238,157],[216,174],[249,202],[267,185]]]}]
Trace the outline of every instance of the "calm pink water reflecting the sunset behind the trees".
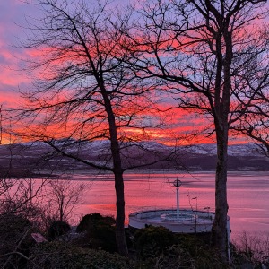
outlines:
[{"label": "calm pink water reflecting the sunset behind the trees", "polygon": [[[171,186],[179,177],[179,207],[214,211],[213,172],[176,174],[126,174],[126,215],[145,208],[175,208],[176,189]],[[110,175],[75,174],[78,181],[90,180],[91,188],[83,195],[83,204],[75,215],[116,213],[115,189]],[[242,230],[248,233],[269,232],[269,172],[231,172],[228,179],[229,215],[232,236]],[[126,220],[127,223],[128,220]]]}]

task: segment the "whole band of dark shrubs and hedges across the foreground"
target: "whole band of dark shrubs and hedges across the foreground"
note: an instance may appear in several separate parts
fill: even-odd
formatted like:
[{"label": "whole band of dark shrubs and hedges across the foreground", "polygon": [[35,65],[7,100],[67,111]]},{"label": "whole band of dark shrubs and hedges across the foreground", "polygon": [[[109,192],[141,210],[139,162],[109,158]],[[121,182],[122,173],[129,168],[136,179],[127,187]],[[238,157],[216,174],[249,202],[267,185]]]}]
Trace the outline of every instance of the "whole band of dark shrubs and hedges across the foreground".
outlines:
[{"label": "whole band of dark shrubs and hedges across the foreground", "polygon": [[[152,226],[132,232],[127,230],[129,255],[119,256],[115,220],[99,213],[85,215],[76,228],[71,228],[65,221],[52,221],[47,230],[41,230],[15,214],[2,216],[0,222],[1,268],[221,269],[269,266],[268,257],[266,262],[265,256],[255,256],[251,246],[233,246],[231,265],[228,265],[221,262],[220,254],[209,246],[208,240]],[[37,232],[46,241],[37,243],[32,237],[32,233]]]}]

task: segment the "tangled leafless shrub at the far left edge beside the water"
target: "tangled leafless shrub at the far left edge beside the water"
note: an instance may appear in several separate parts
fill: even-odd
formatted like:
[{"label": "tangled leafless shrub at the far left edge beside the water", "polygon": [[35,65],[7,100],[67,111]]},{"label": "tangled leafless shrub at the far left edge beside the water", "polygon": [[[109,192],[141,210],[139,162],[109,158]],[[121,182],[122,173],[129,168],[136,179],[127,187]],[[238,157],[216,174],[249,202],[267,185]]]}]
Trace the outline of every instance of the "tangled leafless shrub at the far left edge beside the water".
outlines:
[{"label": "tangled leafless shrub at the far left edge beside the water", "polygon": [[[29,246],[30,232],[35,230],[42,213],[40,190],[44,181],[31,178],[4,178],[0,186],[0,266],[19,268]],[[40,228],[40,227],[39,227]]]}]

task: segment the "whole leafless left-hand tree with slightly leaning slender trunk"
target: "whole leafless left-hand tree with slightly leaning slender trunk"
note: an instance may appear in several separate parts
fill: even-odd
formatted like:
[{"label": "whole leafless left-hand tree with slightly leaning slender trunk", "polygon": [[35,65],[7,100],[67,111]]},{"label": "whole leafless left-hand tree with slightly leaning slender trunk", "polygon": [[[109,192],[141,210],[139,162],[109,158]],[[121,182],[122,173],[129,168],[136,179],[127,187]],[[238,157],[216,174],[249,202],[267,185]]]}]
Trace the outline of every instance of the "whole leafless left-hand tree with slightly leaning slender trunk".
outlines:
[{"label": "whole leafless left-hand tree with slightly leaning slender trunk", "polygon": [[[64,157],[114,174],[117,249],[126,255],[123,172],[130,167],[123,167],[121,153],[136,141],[134,134],[145,134],[144,126],[157,125],[150,116],[154,97],[146,98],[154,85],[142,83],[125,64],[130,55],[121,49],[123,33],[117,27],[127,16],[117,21],[108,4],[99,1],[91,6],[85,1],[38,3],[44,17],[30,22],[33,36],[23,47],[39,51],[28,70],[39,77],[24,95],[28,107],[20,127],[28,139],[44,141]],[[99,160],[85,158],[82,150],[100,140],[106,140],[107,147]]]}]

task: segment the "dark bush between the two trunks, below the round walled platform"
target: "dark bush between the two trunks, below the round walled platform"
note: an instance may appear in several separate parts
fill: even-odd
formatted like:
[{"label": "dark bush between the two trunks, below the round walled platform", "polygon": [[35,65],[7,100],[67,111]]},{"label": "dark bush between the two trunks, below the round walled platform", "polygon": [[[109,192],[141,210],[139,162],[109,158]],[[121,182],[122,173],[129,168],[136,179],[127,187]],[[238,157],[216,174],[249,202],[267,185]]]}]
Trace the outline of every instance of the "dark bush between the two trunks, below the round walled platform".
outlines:
[{"label": "dark bush between the two trunks, below the round walled platform", "polygon": [[164,227],[149,226],[134,234],[140,268],[230,268],[221,256],[195,235],[176,234]]}]

